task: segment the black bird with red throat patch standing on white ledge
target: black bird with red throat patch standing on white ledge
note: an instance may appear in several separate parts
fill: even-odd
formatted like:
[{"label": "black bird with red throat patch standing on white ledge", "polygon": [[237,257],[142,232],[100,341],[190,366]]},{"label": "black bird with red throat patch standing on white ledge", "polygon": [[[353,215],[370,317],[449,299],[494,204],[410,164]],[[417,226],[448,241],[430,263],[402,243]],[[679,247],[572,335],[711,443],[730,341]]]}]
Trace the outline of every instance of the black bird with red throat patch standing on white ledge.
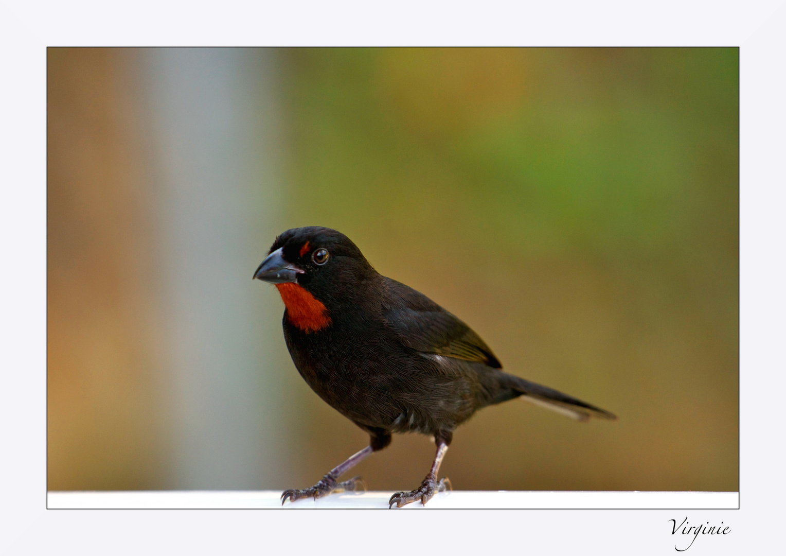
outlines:
[{"label": "black bird with red throat patch standing on white ledge", "polygon": [[[456,316],[401,282],[376,272],[349,237],[318,226],[276,237],[254,278],[276,285],[284,300],[284,337],[303,379],[371,436],[368,447],[313,487],[287,499],[354,490],[339,477],[393,433],[434,436],[437,451],[421,486],[396,492],[390,506],[428,502],[453,432],[479,409],[522,396],[578,421],[615,415],[552,388],[504,373],[480,337]],[[450,484],[448,482],[448,484]]]}]

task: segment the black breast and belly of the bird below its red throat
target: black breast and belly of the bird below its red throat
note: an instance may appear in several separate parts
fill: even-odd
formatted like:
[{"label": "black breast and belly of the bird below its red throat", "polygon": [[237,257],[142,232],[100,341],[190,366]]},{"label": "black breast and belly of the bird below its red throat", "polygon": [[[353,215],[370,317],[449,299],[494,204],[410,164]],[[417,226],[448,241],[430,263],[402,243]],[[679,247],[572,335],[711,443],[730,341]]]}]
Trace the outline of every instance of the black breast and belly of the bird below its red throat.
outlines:
[{"label": "black breast and belly of the bird below its red throat", "polygon": [[413,348],[387,314],[333,311],[332,324],[315,333],[285,314],[292,360],[322,400],[358,425],[433,434],[455,429],[498,395],[496,370]]}]

